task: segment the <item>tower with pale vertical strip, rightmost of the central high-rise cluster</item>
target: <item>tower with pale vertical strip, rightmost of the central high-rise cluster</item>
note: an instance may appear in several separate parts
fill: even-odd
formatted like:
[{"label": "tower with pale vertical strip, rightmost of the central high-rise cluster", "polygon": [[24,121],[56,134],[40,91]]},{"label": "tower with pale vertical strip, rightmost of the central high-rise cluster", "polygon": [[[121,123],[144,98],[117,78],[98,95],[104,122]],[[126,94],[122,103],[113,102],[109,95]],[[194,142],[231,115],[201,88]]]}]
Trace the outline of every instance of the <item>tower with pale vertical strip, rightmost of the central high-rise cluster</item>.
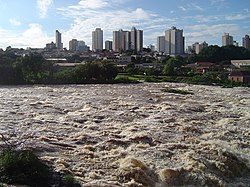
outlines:
[{"label": "tower with pale vertical strip, rightmost of the central high-rise cluster", "polygon": [[132,27],[131,32],[131,49],[141,51],[143,49],[143,30],[137,30]]}]

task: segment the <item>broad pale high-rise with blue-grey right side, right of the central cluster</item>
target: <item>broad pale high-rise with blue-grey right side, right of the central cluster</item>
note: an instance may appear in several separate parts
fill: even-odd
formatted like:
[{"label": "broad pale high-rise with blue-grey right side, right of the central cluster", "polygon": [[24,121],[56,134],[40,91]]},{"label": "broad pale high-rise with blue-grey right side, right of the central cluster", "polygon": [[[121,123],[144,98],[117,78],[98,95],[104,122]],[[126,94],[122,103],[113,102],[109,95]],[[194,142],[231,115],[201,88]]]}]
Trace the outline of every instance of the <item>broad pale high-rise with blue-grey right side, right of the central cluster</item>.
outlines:
[{"label": "broad pale high-rise with blue-grey right side, right of the central cluster", "polygon": [[165,31],[165,53],[173,56],[183,55],[184,43],[183,30],[172,27]]}]

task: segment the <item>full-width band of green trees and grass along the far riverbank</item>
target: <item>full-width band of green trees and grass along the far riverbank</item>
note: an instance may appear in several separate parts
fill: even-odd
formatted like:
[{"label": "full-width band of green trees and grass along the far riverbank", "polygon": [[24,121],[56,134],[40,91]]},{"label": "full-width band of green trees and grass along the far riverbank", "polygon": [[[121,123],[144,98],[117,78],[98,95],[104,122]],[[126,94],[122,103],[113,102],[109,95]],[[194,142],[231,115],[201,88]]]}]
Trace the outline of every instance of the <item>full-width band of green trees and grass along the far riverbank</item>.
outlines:
[{"label": "full-width band of green trees and grass along the far riverbank", "polygon": [[[128,51],[127,54],[133,54]],[[250,59],[250,51],[236,46],[209,46],[198,55],[170,57],[158,61],[152,56],[132,57],[132,62],[117,67],[109,61],[86,59],[79,55],[67,58],[71,63],[90,60],[84,65],[60,67],[46,61],[42,55],[33,53],[18,57],[11,50],[0,53],[0,84],[88,84],[88,83],[138,83],[182,82],[190,84],[220,85],[223,87],[248,86],[228,81],[228,72],[223,65],[232,59]],[[135,64],[154,63],[154,68],[136,68]],[[195,62],[211,62],[214,68],[206,73],[197,73]],[[212,65],[213,65],[212,64]]]}]

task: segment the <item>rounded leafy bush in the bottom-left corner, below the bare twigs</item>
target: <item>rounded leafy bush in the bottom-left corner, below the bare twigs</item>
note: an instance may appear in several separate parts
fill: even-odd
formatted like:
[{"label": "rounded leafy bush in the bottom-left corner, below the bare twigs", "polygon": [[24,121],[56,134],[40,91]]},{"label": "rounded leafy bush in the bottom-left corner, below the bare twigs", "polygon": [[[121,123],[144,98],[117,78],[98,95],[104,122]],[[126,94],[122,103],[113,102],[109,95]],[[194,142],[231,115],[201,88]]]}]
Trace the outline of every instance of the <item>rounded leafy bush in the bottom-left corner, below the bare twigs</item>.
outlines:
[{"label": "rounded leafy bush in the bottom-left corner, below the bare twigs", "polygon": [[29,150],[4,150],[0,154],[0,182],[29,186],[51,186],[52,172]]}]

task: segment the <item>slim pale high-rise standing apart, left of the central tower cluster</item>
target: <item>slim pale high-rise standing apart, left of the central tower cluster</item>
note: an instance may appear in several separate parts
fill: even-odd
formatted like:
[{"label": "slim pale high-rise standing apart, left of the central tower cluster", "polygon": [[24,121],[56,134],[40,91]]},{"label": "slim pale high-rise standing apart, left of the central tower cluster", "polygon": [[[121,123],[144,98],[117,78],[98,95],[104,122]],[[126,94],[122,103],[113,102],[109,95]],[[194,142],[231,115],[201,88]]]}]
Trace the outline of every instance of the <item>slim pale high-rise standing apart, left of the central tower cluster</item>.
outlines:
[{"label": "slim pale high-rise standing apart, left of the central tower cluster", "polygon": [[101,28],[96,28],[95,31],[92,32],[92,50],[103,50],[103,30],[101,30]]}]

